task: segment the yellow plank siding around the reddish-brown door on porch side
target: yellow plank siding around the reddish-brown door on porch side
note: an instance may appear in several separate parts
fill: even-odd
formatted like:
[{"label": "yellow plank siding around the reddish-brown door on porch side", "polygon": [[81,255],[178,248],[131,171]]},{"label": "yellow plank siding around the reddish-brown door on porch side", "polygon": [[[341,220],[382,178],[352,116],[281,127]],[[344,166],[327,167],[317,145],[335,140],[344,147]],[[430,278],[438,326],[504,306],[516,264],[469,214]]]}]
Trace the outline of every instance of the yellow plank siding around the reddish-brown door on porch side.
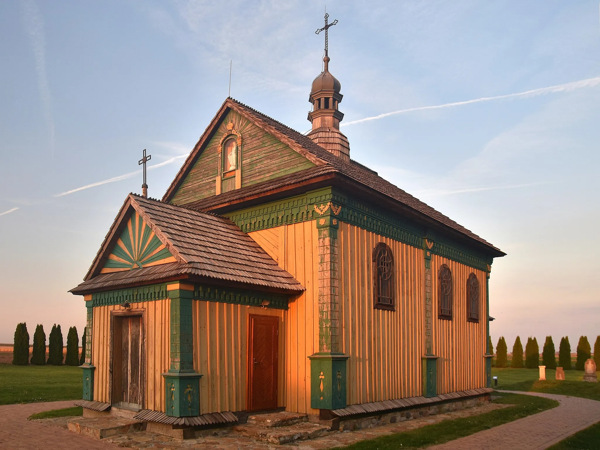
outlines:
[{"label": "yellow plank siding around the reddish-brown door on porch side", "polygon": [[248,314],[279,317],[277,406],[284,400],[283,310],[194,300],[194,368],[200,374],[200,414],[247,409]]}]

